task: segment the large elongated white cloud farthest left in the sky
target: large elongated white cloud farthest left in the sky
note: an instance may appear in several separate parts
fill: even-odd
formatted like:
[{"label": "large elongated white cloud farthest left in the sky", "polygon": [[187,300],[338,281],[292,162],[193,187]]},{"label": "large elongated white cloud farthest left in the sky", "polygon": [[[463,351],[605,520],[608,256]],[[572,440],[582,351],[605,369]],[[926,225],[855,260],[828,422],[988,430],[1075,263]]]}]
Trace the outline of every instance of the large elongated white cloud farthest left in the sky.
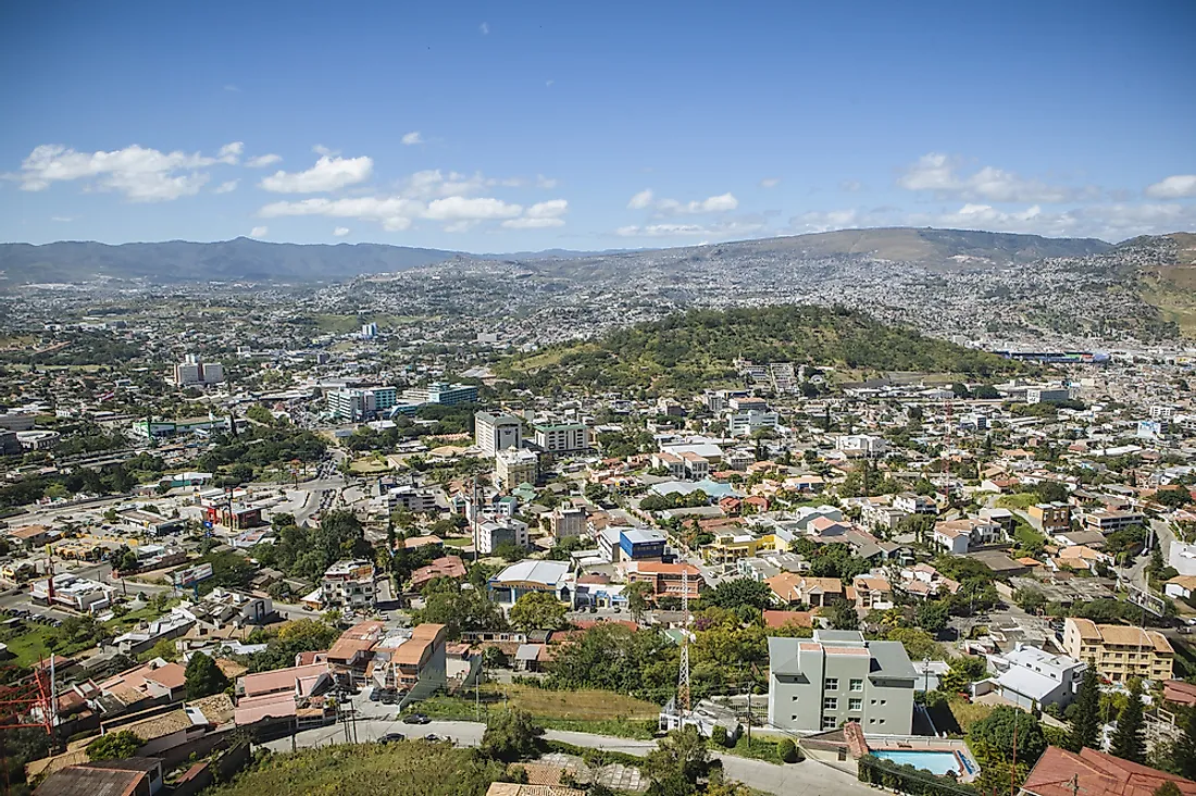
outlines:
[{"label": "large elongated white cloud farthest left in the sky", "polygon": [[199,152],[160,152],[134,144],[111,152],[77,152],[60,144],[43,144],[22,162],[22,190],[45,190],[55,182],[94,180],[99,190],[116,190],[130,201],[170,201],[197,194],[209,177],[199,171],[236,165],[244,146],[220,147],[215,157]]}]

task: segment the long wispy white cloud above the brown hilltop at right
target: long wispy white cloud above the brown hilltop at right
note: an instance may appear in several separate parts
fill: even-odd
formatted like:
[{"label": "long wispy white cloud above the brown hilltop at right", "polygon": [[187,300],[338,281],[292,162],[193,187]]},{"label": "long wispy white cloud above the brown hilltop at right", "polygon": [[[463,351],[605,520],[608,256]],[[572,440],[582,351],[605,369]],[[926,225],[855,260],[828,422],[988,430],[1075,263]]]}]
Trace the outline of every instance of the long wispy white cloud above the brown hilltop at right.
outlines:
[{"label": "long wispy white cloud above the brown hilltop at right", "polygon": [[964,176],[959,174],[959,158],[930,152],[908,166],[897,178],[907,190],[933,192],[941,198],[990,202],[1060,203],[1079,199],[1094,199],[1099,190],[1091,186],[1075,188],[1052,186],[1041,180],[1027,180],[1012,171],[984,166]]}]

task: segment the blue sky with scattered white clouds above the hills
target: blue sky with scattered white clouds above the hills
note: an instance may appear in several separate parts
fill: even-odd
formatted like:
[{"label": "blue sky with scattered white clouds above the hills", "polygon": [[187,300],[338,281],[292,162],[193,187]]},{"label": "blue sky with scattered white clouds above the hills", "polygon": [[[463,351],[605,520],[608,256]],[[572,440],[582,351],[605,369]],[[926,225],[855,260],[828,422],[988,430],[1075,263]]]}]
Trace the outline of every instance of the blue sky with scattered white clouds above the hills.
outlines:
[{"label": "blue sky with scattered white clouds above the hills", "polygon": [[0,241],[1196,230],[1196,2],[0,4]]}]

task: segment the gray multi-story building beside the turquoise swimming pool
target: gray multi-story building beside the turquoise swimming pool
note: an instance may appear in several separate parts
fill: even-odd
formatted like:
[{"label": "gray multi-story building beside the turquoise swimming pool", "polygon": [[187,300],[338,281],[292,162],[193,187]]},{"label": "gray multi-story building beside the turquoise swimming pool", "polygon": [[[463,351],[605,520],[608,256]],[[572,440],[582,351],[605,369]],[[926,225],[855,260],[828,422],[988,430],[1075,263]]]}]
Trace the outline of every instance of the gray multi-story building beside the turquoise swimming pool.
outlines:
[{"label": "gray multi-story building beside the turquoise swimming pool", "polygon": [[917,673],[899,642],[859,631],[769,638],[769,724],[818,733],[853,721],[869,735],[909,735]]}]

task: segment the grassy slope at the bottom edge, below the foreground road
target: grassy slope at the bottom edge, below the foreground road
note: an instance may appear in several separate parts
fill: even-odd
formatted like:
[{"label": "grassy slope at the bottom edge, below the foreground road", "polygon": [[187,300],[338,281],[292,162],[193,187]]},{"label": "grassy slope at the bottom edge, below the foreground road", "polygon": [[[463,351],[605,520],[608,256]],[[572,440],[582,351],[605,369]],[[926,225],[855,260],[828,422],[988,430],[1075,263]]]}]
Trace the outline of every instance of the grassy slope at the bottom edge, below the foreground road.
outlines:
[{"label": "grassy slope at the bottom edge, below the foreground road", "polygon": [[451,743],[338,745],[271,754],[208,796],[481,796],[506,766]]}]

